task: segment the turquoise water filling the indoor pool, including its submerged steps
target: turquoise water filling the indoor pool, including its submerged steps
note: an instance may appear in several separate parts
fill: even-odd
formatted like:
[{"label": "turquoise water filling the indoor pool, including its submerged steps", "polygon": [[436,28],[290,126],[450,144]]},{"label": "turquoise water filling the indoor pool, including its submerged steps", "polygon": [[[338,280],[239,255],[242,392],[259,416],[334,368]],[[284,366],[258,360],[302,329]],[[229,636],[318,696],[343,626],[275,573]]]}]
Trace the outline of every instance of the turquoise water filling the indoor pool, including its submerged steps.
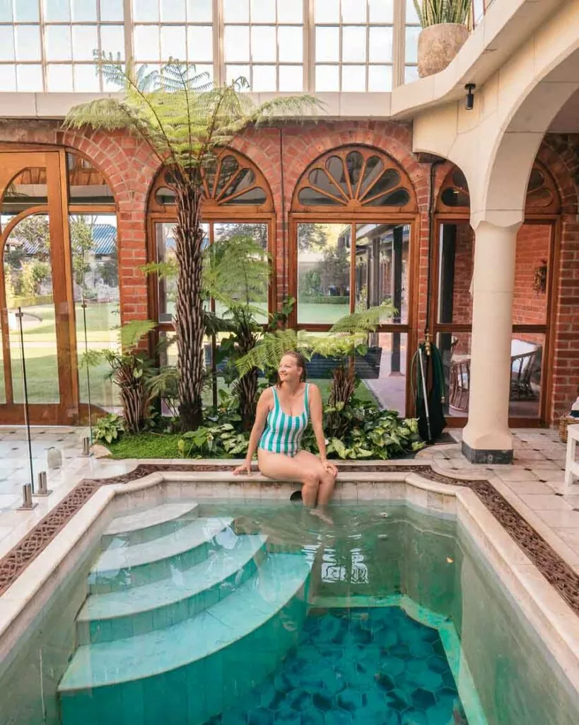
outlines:
[{"label": "turquoise water filling the indoor pool, including its submerged steps", "polygon": [[0,663],[0,725],[578,722],[467,532],[402,504],[135,511]]}]

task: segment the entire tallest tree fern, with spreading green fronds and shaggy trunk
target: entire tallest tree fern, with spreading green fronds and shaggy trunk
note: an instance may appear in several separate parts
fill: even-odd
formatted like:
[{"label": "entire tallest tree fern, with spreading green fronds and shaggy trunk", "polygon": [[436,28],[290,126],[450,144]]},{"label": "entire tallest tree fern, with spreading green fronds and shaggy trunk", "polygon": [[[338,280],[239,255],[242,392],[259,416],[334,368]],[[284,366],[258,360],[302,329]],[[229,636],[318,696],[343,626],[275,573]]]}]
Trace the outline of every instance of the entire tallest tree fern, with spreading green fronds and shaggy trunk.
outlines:
[{"label": "entire tallest tree fern, with spreading green fronds and shaggy trunk", "polygon": [[147,144],[169,168],[169,186],[175,194],[175,259],[177,298],[175,331],[179,368],[179,416],[183,431],[203,420],[204,381],[201,260],[203,250],[203,178],[214,169],[221,149],[250,124],[283,116],[300,117],[316,107],[311,96],[277,96],[256,105],[245,92],[245,79],[213,87],[195,66],[169,59],[160,72],[135,71],[96,56],[108,83],[119,86],[122,98],[90,101],[71,109],[64,128],[127,129]]}]

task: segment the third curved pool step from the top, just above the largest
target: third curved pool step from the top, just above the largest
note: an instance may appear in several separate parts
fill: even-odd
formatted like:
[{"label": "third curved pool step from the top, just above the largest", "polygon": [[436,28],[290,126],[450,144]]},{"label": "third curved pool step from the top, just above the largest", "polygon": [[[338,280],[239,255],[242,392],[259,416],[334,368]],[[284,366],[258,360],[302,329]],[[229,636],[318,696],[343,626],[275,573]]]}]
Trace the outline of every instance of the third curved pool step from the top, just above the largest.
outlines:
[{"label": "third curved pool step from the top, just above the largest", "polygon": [[178,624],[230,595],[266,555],[266,537],[241,536],[186,571],[141,587],[90,595],[77,616],[81,645],[144,634]]}]

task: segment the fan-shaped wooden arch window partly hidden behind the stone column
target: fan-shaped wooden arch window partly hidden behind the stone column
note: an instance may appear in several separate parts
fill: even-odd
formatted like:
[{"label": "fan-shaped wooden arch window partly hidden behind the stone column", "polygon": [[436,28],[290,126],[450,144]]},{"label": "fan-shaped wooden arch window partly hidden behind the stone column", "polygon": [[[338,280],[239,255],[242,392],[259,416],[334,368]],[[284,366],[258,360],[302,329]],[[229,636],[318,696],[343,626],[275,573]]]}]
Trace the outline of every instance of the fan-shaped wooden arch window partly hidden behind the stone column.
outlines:
[{"label": "fan-shaped wooden arch window partly hidden behind the stone column", "polygon": [[[525,213],[557,214],[561,210],[559,192],[548,170],[536,161],[527,186]],[[470,215],[470,194],[465,175],[453,167],[444,179],[436,207],[437,212]]]}]

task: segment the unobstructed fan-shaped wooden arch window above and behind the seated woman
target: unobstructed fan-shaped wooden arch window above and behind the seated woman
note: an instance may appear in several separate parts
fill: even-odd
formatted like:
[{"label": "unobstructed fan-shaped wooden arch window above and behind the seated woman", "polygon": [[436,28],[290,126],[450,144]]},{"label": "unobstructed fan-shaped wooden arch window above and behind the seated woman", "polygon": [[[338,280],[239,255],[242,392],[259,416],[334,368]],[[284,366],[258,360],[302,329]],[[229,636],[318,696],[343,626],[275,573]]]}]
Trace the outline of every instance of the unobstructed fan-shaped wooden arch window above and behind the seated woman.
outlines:
[{"label": "unobstructed fan-shaped wooden arch window above and behind the seated woman", "polygon": [[321,156],[297,183],[294,212],[414,212],[407,174],[378,149],[349,146]]}]

